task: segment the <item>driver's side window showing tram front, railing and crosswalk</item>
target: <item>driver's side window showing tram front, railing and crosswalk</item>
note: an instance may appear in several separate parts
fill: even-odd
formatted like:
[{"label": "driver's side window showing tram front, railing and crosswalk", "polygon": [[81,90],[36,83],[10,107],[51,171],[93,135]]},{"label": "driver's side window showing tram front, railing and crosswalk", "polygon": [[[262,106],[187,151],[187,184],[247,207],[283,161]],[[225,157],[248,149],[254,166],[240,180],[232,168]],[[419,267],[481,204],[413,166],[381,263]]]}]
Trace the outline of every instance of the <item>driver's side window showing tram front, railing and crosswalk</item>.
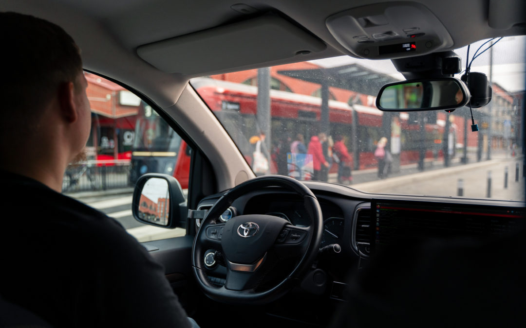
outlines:
[{"label": "driver's side window showing tram front, railing and crosswalk", "polygon": [[[92,73],[86,72],[85,76],[92,109],[87,159],[68,166],[63,193],[115,218],[139,241],[184,236],[183,228],[139,223],[131,214],[131,198],[135,181],[144,173],[174,175],[187,194],[191,156],[188,145],[139,98],[127,103],[107,98],[114,94],[112,90],[127,91],[125,88]],[[128,96],[128,100],[135,97],[132,93]]]}]

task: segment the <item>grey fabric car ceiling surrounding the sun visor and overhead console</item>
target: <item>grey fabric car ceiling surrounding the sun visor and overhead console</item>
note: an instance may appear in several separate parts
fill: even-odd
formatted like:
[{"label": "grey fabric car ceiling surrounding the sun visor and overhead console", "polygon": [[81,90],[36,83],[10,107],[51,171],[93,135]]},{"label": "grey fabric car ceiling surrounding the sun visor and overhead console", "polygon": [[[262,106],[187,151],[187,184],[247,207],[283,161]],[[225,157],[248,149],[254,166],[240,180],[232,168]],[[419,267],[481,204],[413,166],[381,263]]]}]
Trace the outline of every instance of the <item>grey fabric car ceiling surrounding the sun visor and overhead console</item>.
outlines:
[{"label": "grey fabric car ceiling surrounding the sun visor and overhead console", "polygon": [[[183,90],[188,79],[195,76],[205,76],[211,73],[235,71],[240,69],[257,68],[287,62],[327,58],[340,55],[351,55],[333,37],[327,28],[327,17],[360,6],[376,4],[378,1],[319,1],[319,0],[266,0],[265,2],[246,1],[243,5],[248,8],[248,14],[242,10],[232,9],[239,4],[229,0],[53,0],[42,2],[39,0],[19,0],[2,2],[0,10],[15,11],[32,14],[48,19],[64,27],[83,49],[85,68],[103,75],[112,76],[120,81],[147,93],[150,97],[158,98],[163,105],[171,105],[177,99],[174,86]],[[521,17],[518,23],[508,29],[495,29],[488,25],[489,8],[515,8],[523,6],[523,0],[425,0],[419,3],[426,6],[440,20],[453,40],[450,48],[459,48],[473,41],[484,38],[524,34],[524,23]],[[500,4],[500,5],[498,5]],[[500,10],[500,9],[499,9]],[[502,9],[504,10],[504,9]],[[499,12],[503,17],[509,17],[509,12]],[[520,10],[519,10],[520,11]],[[203,70],[198,70],[198,63],[189,63],[197,69],[190,72],[166,72],[153,67],[138,55],[137,49],[141,46],[156,43],[157,41],[185,36],[198,31],[208,30],[211,36],[218,27],[233,22],[249,21],[265,13],[274,13],[288,20],[292,25],[306,31],[313,38],[306,39],[313,42],[322,41],[325,46],[309,55],[290,56],[288,58],[270,58],[255,56],[254,61],[244,62],[242,66],[229,64],[217,65],[214,62]],[[492,14],[493,17],[498,15]],[[508,15],[508,16],[506,16]],[[517,14],[515,14],[517,15]],[[522,15],[521,15],[522,16]],[[408,17],[411,19],[411,17]],[[501,18],[502,20],[503,18]],[[506,18],[509,19],[509,18]],[[491,19],[490,19],[491,20]],[[501,24],[502,25],[502,24]],[[307,32],[308,31],[308,32]],[[283,42],[286,42],[283,41]],[[191,44],[191,43],[190,43]],[[286,47],[286,44],[262,45],[265,47]],[[214,49],[209,49],[210,58],[220,56],[246,56],[257,54],[259,49],[231,49],[228,54],[217,54]],[[191,51],[191,49],[189,49]],[[161,54],[162,56],[162,54]],[[170,60],[176,62],[177,56],[169,54]],[[191,61],[191,56],[185,56]],[[190,59],[189,59],[190,58]],[[241,59],[241,57],[239,57]],[[216,61],[221,64],[220,60]],[[141,83],[147,80],[149,85]],[[152,85],[152,81],[154,85]],[[171,93],[170,100],[163,99],[163,95]]]}]

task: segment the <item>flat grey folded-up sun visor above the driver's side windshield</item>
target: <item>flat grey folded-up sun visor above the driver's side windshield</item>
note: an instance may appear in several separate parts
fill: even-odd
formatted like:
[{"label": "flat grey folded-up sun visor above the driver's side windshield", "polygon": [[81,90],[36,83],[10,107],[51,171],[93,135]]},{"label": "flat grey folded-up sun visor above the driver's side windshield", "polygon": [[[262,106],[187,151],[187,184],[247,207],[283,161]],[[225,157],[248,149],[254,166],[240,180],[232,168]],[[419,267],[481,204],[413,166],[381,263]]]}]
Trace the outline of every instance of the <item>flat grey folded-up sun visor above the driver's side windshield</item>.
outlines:
[{"label": "flat grey folded-up sun visor above the driver's side windshield", "polygon": [[162,71],[198,75],[306,55],[326,47],[284,18],[267,15],[140,46],[137,54]]}]

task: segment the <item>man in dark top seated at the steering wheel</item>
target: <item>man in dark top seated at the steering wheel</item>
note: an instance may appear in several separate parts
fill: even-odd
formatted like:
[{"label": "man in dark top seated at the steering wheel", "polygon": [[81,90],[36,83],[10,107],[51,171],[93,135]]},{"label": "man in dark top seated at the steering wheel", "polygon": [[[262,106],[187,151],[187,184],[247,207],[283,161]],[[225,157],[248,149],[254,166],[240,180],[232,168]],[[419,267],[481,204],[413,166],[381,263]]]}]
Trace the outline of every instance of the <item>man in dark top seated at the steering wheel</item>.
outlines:
[{"label": "man in dark top seated at the steering wheel", "polygon": [[16,13],[0,13],[0,30],[1,297],[54,327],[190,327],[143,247],[117,221],[60,194],[91,127],[74,40]]}]

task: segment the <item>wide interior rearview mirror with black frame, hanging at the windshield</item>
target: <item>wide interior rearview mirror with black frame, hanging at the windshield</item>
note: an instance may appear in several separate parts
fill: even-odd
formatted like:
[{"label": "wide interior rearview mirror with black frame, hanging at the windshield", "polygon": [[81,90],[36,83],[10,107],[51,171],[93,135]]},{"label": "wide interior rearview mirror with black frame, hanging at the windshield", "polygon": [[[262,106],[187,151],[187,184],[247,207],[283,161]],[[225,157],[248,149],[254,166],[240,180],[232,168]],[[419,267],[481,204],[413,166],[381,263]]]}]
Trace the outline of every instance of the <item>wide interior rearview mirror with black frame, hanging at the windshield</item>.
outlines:
[{"label": "wide interior rearview mirror with black frame, hanging at the windshield", "polygon": [[381,111],[452,110],[466,105],[470,94],[457,78],[436,78],[389,83],[376,98]]}]

